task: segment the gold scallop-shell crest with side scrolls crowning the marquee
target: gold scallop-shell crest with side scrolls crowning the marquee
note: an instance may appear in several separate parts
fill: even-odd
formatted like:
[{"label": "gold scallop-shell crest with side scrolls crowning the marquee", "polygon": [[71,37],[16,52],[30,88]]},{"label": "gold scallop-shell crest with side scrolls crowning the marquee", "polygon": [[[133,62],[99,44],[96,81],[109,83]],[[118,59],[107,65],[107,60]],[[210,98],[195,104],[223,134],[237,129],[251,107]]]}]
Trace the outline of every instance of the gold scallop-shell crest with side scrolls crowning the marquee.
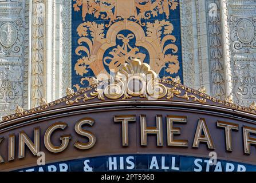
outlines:
[{"label": "gold scallop-shell crest with side scrolls crowning the marquee", "polygon": [[[179,78],[175,81],[180,81]],[[103,83],[103,89],[95,89],[90,93],[90,97],[85,96],[77,97],[74,101],[67,101],[67,105],[72,105],[80,100],[91,100],[98,97],[99,100],[105,100],[105,97],[112,100],[125,100],[132,97],[140,97],[147,99],[161,99],[166,97],[167,100],[174,98],[183,98],[185,100],[192,99],[193,101],[205,103],[206,99],[198,98],[192,94],[185,92],[181,94],[181,90],[176,87],[166,87],[162,83],[159,83],[159,78],[155,71],[151,70],[147,63],[141,63],[139,59],[132,59],[130,63],[125,63],[120,66],[120,70],[117,72],[115,79],[111,79],[107,85]]]}]

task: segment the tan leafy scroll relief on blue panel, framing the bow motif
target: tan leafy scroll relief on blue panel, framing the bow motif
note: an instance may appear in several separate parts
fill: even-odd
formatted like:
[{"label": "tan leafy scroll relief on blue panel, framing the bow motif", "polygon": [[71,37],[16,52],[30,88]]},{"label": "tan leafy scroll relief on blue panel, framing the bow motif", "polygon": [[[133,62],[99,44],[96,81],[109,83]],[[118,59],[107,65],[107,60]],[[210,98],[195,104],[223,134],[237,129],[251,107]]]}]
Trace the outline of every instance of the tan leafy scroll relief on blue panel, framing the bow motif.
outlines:
[{"label": "tan leafy scroll relief on blue panel, framing the bow motif", "polygon": [[[120,21],[116,24],[119,25],[118,29],[120,29],[120,27],[125,29],[126,25],[135,25],[136,23],[132,21]],[[180,63],[178,55],[175,55],[178,51],[178,46],[175,45],[176,38],[172,35],[172,30],[174,29],[172,23],[164,20],[156,20],[152,23],[148,22],[146,25],[146,34],[141,27],[140,29],[136,29],[136,26],[127,27],[128,30],[134,31],[133,34],[129,34],[127,37],[123,34],[113,36],[117,31],[111,29],[109,31],[112,31],[112,33],[108,33],[109,37],[106,38],[104,38],[103,26],[103,24],[91,22],[85,22],[82,23],[81,26],[78,26],[78,34],[87,36],[89,34],[87,31],[90,31],[92,40],[87,37],[78,39],[78,45],[81,46],[77,46],[75,50],[76,54],[81,55],[82,51],[84,51],[87,56],[82,56],[77,60],[74,66],[76,74],[83,76],[88,73],[89,68],[93,70],[94,75],[100,73],[108,74],[104,65],[108,66],[109,70],[116,72],[119,70],[120,65],[128,63],[131,61],[131,58],[138,58],[143,61],[146,55],[138,52],[139,48],[137,46],[143,46],[148,50],[149,57],[152,58],[150,59],[149,65],[156,73],[159,73],[160,70],[166,66],[166,63],[168,63],[166,69],[167,73],[178,73]],[[113,29],[115,27],[113,27]],[[163,38],[160,38],[160,35],[164,35]],[[136,46],[131,46],[129,40],[134,37],[140,39],[136,39]],[[116,45],[116,38],[123,41],[123,45]],[[173,43],[165,44],[166,41]],[[83,46],[82,43],[85,43],[86,46]],[[108,57],[103,57],[105,51],[112,46],[116,46],[116,48],[110,51]],[[174,54],[165,54],[168,49],[172,50]],[[107,59],[109,59],[110,62],[107,62]]]}]

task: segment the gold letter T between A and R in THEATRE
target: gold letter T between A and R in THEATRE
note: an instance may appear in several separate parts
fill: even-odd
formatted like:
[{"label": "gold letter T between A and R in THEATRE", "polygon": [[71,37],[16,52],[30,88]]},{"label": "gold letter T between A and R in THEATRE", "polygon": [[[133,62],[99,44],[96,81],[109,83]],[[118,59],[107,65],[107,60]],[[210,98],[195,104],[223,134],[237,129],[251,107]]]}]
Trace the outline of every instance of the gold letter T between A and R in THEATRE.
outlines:
[{"label": "gold letter T between A and R in THEATRE", "polygon": [[217,121],[217,126],[225,128],[226,150],[232,151],[232,130],[238,130],[238,124],[231,122]]}]

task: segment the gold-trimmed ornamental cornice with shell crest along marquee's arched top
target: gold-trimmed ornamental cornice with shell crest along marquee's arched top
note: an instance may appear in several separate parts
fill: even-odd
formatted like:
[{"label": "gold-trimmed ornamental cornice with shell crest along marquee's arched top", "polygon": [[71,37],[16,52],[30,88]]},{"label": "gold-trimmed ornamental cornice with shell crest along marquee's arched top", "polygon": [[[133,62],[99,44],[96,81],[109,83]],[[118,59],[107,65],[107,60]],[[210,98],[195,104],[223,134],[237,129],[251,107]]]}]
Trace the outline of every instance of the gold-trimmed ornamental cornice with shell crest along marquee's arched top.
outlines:
[{"label": "gold-trimmed ornamental cornice with shell crest along marquee's arched top", "polygon": [[[134,72],[132,68],[135,69],[135,66],[137,67],[136,70],[140,70],[141,72]],[[233,104],[231,100],[219,100],[215,97],[211,97],[205,93],[199,92],[198,90],[194,90],[190,87],[184,86],[181,83],[176,83],[168,79],[156,78],[155,74],[152,70],[150,70],[150,67],[149,65],[147,65],[147,63],[132,61],[129,64],[126,63],[123,67],[121,66],[120,68],[121,70],[116,74],[115,79],[111,79],[112,82],[110,80],[95,83],[94,85],[80,89],[78,92],[72,92],[68,96],[60,98],[59,100],[49,103],[45,102],[45,105],[41,105],[37,108],[26,110],[23,112],[19,111],[19,113],[17,114],[3,117],[3,121],[9,121],[18,117],[27,116],[29,114],[35,114],[44,110],[50,110],[53,106],[57,105],[60,105],[60,107],[63,108],[63,106],[80,103],[82,104],[83,102],[87,102],[93,99],[99,99],[100,101],[104,101],[106,98],[108,98],[109,100],[131,100],[131,98],[136,98],[136,100],[140,100],[140,98],[141,100],[173,100],[174,97],[176,97],[184,101],[198,102],[202,105],[206,104],[206,102],[214,102],[215,104],[222,105],[223,107],[256,114],[256,109],[254,108],[255,105],[252,105],[250,108],[245,106],[239,106]],[[134,73],[134,75],[132,77],[124,77],[124,75],[129,74],[129,71],[131,71],[131,73]],[[117,83],[120,81],[124,83],[124,80],[122,79],[138,79],[139,81],[143,82],[141,78],[143,78],[147,73],[151,73],[153,77],[145,83],[145,87],[147,88],[145,89],[145,93],[133,92],[129,89],[122,90],[119,89],[117,86]],[[121,85],[123,85],[123,83],[121,83]],[[127,83],[129,83],[129,81]],[[106,93],[106,91],[111,88],[110,86],[112,87],[112,89],[114,89],[113,91],[115,91],[112,94]],[[156,89],[156,91],[158,92],[156,96],[154,96],[155,93],[151,89]],[[56,107],[54,109],[56,109]]]}]

